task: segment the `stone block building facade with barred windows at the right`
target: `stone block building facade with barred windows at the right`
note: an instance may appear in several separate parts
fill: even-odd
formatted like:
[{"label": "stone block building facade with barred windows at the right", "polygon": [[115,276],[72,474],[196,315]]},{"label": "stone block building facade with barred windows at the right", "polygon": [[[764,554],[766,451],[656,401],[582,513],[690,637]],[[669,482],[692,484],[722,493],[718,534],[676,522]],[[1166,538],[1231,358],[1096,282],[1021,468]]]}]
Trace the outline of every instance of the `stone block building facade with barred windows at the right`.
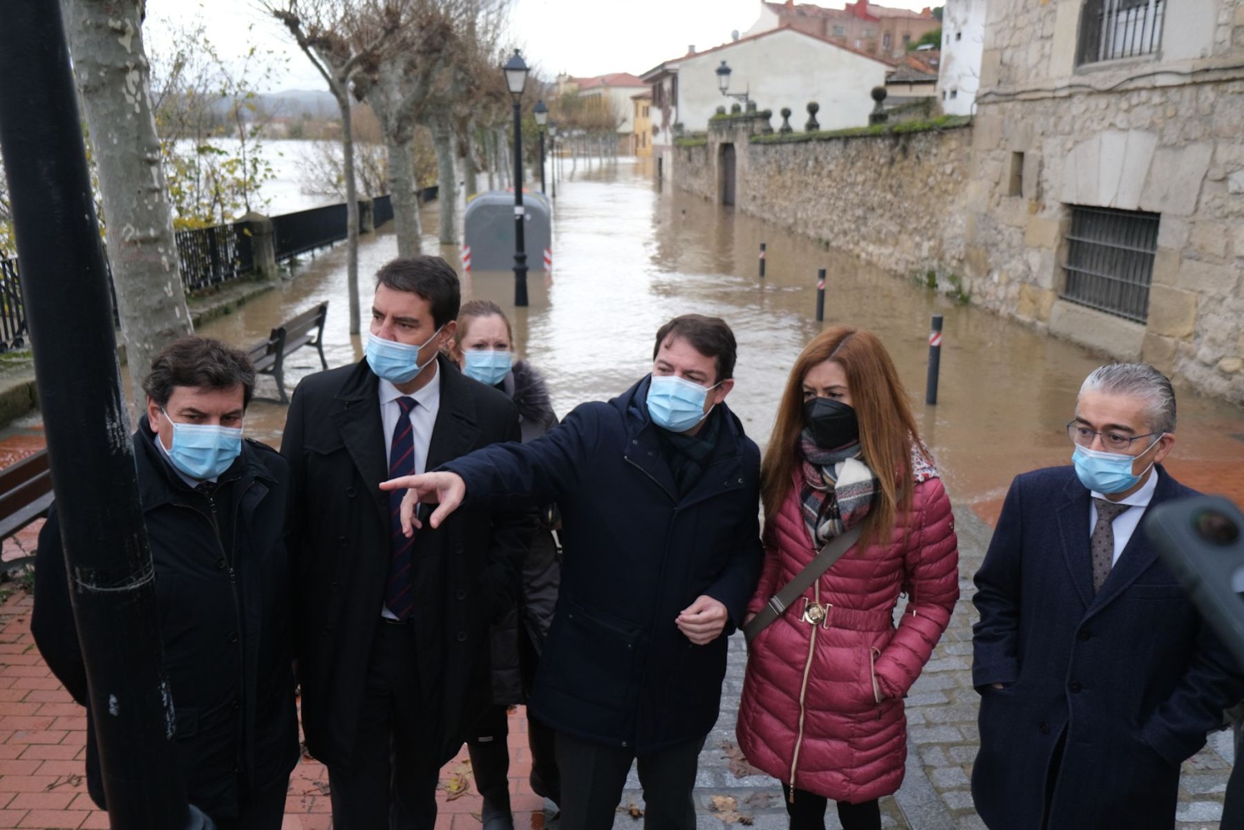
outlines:
[{"label": "stone block building facade with barred windows at the right", "polygon": [[1244,402],[1244,0],[990,0],[973,301]]}]

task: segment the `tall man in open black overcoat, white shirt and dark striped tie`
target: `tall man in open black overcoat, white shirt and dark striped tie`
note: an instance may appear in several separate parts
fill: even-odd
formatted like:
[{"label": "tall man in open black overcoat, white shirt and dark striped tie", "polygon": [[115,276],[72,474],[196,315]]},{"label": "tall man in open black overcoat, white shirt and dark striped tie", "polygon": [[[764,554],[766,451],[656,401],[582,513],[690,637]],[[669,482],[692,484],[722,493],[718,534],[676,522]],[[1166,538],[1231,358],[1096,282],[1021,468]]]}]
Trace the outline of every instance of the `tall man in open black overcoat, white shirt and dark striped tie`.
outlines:
[{"label": "tall man in open black overcoat, white shirt and dark striped tie", "polygon": [[459,302],[439,256],[388,263],[364,360],[305,378],[290,404],[302,727],[337,830],[432,830],[535,530],[534,513],[479,509],[407,539],[401,494],[378,488],[520,438],[510,399],[440,355]]}]

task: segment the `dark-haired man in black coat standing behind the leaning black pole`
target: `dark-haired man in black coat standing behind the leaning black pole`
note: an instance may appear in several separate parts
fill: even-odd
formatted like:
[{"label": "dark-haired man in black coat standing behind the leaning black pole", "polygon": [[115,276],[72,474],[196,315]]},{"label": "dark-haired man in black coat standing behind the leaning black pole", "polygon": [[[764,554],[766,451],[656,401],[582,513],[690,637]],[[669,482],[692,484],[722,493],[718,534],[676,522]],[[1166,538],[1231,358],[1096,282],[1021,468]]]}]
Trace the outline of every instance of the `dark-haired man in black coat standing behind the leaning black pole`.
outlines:
[{"label": "dark-haired man in black coat standing behind the leaning black pole", "polygon": [[[274,449],[241,438],[254,385],[244,352],[178,340],[152,363],[133,438],[177,759],[190,803],[219,830],[279,830],[299,759],[285,549],[290,470]],[[55,505],[36,569],[35,642],[86,706]],[[87,711],[87,788],[102,808],[93,717]]]}]

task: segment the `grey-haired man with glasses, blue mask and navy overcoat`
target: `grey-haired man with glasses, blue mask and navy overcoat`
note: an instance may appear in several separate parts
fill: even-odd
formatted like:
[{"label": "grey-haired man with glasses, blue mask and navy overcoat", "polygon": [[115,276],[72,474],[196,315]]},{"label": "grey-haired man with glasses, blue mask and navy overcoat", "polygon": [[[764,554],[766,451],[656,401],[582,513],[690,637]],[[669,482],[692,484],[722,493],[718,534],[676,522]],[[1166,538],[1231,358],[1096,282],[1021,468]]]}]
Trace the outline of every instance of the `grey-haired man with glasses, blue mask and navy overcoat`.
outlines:
[{"label": "grey-haired man with glasses, blue mask and navy overcoat", "polygon": [[1171,382],[1103,366],[1067,424],[1074,467],[1015,479],[974,599],[977,811],[994,830],[1169,830],[1179,764],[1242,676],[1138,529],[1193,490],[1161,467]]}]

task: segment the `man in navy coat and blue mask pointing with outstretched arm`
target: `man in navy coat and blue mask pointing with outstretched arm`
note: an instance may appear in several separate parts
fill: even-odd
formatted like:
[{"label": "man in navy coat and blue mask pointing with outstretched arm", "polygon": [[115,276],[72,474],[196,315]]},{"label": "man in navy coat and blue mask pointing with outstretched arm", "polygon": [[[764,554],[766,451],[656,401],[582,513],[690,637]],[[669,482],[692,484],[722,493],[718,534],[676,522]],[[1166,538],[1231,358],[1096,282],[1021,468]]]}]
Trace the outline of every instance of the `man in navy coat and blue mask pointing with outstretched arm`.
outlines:
[{"label": "man in navy coat and blue mask pointing with outstretched arm", "polygon": [[439,501],[423,525],[459,505],[561,508],[561,595],[527,706],[557,733],[566,830],[612,825],[634,759],[649,830],[695,826],[726,635],[763,557],[760,452],[724,403],[734,360],[725,322],[677,317],[657,333],[652,375],[621,397],[531,443],[386,485],[413,488],[406,515],[414,494]]}]

